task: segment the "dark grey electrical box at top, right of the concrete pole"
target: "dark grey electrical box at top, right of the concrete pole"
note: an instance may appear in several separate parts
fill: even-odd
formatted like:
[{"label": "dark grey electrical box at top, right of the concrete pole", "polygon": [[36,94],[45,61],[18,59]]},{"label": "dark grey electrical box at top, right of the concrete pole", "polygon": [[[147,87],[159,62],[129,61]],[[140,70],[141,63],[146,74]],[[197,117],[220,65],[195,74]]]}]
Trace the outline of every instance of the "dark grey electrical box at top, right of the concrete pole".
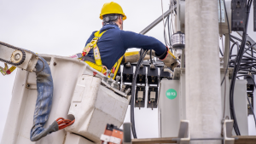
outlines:
[{"label": "dark grey electrical box at top, right of the concrete pole", "polygon": [[247,0],[232,0],[231,30],[244,31],[246,23]]}]

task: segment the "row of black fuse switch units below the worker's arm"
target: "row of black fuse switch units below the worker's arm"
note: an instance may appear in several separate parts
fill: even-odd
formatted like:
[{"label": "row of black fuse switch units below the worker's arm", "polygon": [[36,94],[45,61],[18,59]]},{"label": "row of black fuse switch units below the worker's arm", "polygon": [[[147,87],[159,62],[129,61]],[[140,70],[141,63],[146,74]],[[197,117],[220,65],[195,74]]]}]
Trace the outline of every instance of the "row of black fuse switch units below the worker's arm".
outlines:
[{"label": "row of black fuse switch units below the worker's arm", "polygon": [[[134,107],[147,107],[152,109],[158,107],[160,79],[172,78],[169,71],[164,72],[164,65],[155,65],[150,65],[148,61],[143,61],[143,64],[138,66],[135,97],[134,101],[130,101],[129,105],[131,105],[131,102],[134,102]],[[137,66],[137,63],[126,63],[122,67],[122,71],[119,70],[117,72],[117,76],[121,76],[122,78],[120,82],[120,84],[122,84],[121,91],[125,92],[127,89],[132,88],[131,84],[134,77],[135,66]],[[131,95],[131,91],[127,95]],[[147,103],[147,106],[145,106],[145,103]]]}]

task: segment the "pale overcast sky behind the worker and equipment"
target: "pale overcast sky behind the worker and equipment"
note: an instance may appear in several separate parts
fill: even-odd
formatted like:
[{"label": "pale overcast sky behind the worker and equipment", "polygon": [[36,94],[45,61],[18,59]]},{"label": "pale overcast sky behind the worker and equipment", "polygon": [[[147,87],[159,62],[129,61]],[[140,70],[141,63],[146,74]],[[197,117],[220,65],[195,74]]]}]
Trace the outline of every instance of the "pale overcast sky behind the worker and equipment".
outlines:
[{"label": "pale overcast sky behind the worker and equipment", "polygon": [[[0,0],[0,41],[29,49],[38,54],[73,55],[84,48],[91,32],[100,30],[102,20],[99,14],[106,0]],[[124,30],[141,32],[161,14],[161,3],[156,0],[115,0],[126,16]],[[169,0],[163,0],[164,11]],[[248,33],[253,32],[253,15],[250,17]],[[160,23],[147,33],[164,43],[163,26]],[[0,62],[0,66],[3,63]],[[16,72],[16,70],[15,70]],[[0,140],[7,118],[15,72],[9,76],[0,75]],[[10,106],[11,107],[11,106]],[[128,112],[127,114],[130,114]],[[129,118],[125,118],[129,121]],[[143,108],[136,111],[137,136],[158,137],[157,110]]]}]

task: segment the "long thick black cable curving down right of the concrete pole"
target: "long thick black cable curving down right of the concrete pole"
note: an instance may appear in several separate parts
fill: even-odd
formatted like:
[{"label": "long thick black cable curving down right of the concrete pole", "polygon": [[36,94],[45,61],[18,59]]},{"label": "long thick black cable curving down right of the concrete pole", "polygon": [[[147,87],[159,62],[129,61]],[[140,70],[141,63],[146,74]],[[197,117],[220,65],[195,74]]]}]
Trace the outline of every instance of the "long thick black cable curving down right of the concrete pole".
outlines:
[{"label": "long thick black cable curving down right of the concrete pole", "polygon": [[246,37],[247,37],[247,25],[248,25],[248,19],[249,19],[249,11],[252,5],[252,1],[248,2],[247,5],[247,14],[246,14],[246,23],[245,23],[245,29],[244,32],[242,33],[242,41],[241,41],[241,47],[239,49],[239,53],[236,57],[236,62],[234,66],[234,72],[233,72],[233,77],[231,79],[231,84],[230,84],[230,117],[234,119],[234,130],[236,132],[236,135],[241,135],[240,130],[236,121],[236,112],[235,112],[235,107],[234,107],[234,89],[235,89],[235,83],[236,83],[236,75],[239,70],[239,66],[241,63],[242,55],[244,54],[244,49],[245,49],[245,44],[246,44]]}]

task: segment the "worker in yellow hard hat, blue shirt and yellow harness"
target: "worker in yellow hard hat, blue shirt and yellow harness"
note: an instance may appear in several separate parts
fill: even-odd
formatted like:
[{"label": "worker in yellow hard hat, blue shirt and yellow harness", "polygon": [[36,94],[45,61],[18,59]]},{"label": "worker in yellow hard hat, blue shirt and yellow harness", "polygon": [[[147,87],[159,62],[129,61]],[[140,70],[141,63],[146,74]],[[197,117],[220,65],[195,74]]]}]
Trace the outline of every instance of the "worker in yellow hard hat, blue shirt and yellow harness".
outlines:
[{"label": "worker in yellow hard hat, blue shirt and yellow harness", "polygon": [[166,66],[177,66],[177,60],[171,51],[159,40],[123,31],[126,15],[118,3],[105,3],[100,19],[102,29],[92,32],[82,53],[82,60],[99,72],[106,73],[106,69],[109,69],[114,73],[117,72],[121,61],[126,63],[139,60],[139,52],[125,53],[129,48],[154,49],[154,55],[163,60]]}]

